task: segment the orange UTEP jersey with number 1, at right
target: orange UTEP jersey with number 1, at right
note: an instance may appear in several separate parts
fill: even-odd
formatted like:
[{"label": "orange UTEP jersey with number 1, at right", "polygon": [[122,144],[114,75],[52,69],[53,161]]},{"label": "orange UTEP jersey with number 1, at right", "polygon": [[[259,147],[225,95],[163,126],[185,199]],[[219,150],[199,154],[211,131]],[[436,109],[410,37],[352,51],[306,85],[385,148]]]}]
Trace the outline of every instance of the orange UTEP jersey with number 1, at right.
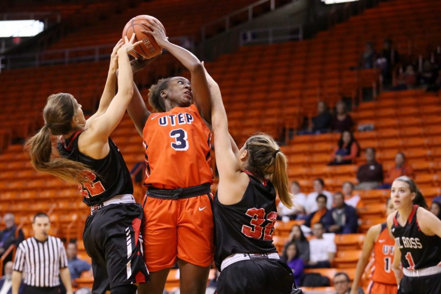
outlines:
[{"label": "orange UTEP jersey with number 1, at right", "polygon": [[381,231],[374,244],[375,263],[371,280],[383,284],[396,285],[392,271],[393,249],[395,240],[389,235],[386,222],[381,224]]}]

